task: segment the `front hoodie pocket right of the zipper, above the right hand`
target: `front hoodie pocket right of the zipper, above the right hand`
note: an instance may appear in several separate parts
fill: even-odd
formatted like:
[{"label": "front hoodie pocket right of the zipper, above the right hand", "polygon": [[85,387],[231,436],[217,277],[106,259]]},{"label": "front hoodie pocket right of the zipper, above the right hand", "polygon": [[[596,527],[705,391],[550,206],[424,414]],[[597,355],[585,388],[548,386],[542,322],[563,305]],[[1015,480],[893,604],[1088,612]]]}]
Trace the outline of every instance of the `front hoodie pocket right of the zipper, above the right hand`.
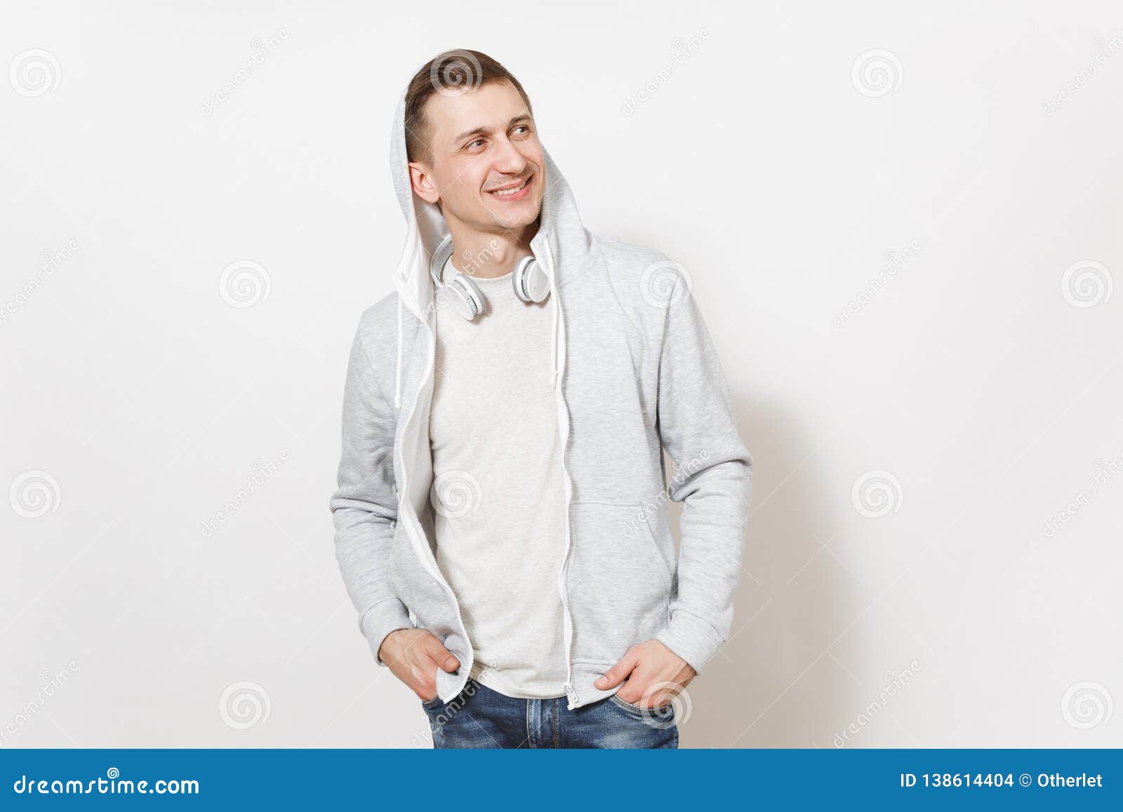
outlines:
[{"label": "front hoodie pocket right of the zipper, above the right hand", "polygon": [[670,573],[639,502],[569,505],[573,662],[613,665],[667,622]]}]

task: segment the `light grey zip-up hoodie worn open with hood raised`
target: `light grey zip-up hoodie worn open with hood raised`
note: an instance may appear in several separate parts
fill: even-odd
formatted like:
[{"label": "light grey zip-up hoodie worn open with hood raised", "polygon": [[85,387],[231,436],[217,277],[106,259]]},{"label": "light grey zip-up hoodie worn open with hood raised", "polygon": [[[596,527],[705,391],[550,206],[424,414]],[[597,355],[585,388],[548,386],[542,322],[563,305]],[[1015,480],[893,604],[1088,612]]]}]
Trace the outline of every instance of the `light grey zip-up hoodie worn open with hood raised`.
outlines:
[{"label": "light grey zip-up hoodie worn open with hood raised", "polygon": [[[377,651],[391,631],[428,629],[460,662],[456,673],[436,670],[448,702],[474,660],[459,603],[433,555],[429,502],[429,258],[448,228],[439,209],[410,189],[404,104],[403,95],[391,170],[405,247],[395,292],[363,313],[351,345],[330,507],[339,568],[375,659],[386,665]],[[572,710],[615,693],[593,682],[633,644],[660,640],[701,673],[725,641],[752,460],[690,277],[656,250],[585,230],[548,154],[545,168],[541,225],[530,248],[550,277],[554,311],[567,516],[557,587]],[[669,472],[664,449],[674,460]],[[668,498],[683,502],[677,556]]]}]

